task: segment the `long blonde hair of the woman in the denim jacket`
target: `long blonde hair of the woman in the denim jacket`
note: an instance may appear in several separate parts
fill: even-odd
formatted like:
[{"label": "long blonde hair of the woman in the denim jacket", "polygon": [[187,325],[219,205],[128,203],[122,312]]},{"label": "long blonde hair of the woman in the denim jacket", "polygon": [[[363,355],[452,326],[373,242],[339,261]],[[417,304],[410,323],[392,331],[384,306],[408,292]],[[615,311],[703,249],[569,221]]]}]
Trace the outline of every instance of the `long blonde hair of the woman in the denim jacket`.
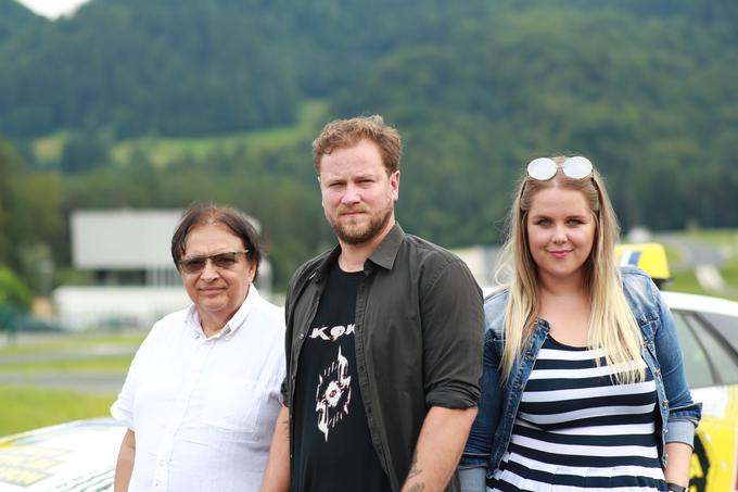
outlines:
[{"label": "long blonde hair of the woman in the denim jacket", "polygon": [[[502,275],[509,278],[509,298],[505,313],[505,351],[501,373],[507,378],[516,358],[529,342],[537,320],[537,267],[529,245],[526,219],[533,197],[546,188],[563,188],[584,194],[595,217],[595,241],[583,265],[586,288],[590,292],[591,315],[588,345],[601,349],[619,383],[645,378],[641,357],[642,336],[621,287],[613,257],[620,234],[618,217],[612,209],[601,176],[593,169],[590,177],[574,179],[562,173],[563,156],[554,157],[558,168],[549,180],[536,180],[527,175],[520,180],[510,211],[508,238],[504,247]],[[498,272],[499,277],[500,272]],[[595,357],[599,365],[599,357]]]}]

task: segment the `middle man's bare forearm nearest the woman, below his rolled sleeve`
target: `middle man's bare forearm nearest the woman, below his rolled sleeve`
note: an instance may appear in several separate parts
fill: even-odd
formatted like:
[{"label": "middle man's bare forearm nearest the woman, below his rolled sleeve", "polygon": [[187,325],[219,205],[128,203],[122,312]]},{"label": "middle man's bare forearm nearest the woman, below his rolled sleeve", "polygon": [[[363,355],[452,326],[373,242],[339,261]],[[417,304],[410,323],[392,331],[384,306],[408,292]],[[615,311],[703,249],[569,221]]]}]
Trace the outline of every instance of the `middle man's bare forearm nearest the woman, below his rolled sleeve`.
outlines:
[{"label": "middle man's bare forearm nearest the woman, below his rolled sleeve", "polygon": [[418,437],[403,492],[443,491],[461,458],[476,407],[431,407]]}]

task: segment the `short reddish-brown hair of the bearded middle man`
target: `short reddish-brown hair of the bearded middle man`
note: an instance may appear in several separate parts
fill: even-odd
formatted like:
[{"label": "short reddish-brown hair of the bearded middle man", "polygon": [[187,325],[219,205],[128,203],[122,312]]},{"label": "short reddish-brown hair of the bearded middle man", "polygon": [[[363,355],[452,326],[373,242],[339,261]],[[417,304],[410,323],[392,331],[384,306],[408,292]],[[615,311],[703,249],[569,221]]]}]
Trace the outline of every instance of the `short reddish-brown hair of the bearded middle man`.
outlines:
[{"label": "short reddish-brown hair of the bearded middle man", "polygon": [[358,116],[351,119],[334,119],[323,127],[313,141],[313,162],[320,173],[320,160],[335,149],[353,147],[361,140],[374,142],[387,176],[399,169],[403,143],[396,129],[384,124],[382,116]]}]

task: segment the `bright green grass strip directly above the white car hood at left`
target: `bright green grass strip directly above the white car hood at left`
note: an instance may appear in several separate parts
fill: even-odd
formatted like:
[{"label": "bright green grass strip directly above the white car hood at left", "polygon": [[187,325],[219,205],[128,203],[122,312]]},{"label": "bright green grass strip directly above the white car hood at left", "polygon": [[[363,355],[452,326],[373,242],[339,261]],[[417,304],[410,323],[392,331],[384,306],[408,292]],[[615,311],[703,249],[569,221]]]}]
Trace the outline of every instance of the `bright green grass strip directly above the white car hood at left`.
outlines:
[{"label": "bright green grass strip directly above the white car hood at left", "polygon": [[110,394],[0,386],[0,436],[68,420],[110,415]]}]

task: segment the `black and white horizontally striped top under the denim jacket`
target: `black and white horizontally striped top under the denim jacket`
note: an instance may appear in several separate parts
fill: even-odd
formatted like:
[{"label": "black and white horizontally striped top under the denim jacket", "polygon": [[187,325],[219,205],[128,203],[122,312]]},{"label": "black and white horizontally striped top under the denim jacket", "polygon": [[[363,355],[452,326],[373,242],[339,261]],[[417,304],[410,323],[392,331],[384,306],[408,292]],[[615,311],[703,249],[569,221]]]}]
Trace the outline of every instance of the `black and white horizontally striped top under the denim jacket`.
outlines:
[{"label": "black and white horizontally striped top under the denim jacket", "polygon": [[487,490],[666,490],[653,378],[647,370],[646,381],[614,383],[601,355],[548,337]]}]

